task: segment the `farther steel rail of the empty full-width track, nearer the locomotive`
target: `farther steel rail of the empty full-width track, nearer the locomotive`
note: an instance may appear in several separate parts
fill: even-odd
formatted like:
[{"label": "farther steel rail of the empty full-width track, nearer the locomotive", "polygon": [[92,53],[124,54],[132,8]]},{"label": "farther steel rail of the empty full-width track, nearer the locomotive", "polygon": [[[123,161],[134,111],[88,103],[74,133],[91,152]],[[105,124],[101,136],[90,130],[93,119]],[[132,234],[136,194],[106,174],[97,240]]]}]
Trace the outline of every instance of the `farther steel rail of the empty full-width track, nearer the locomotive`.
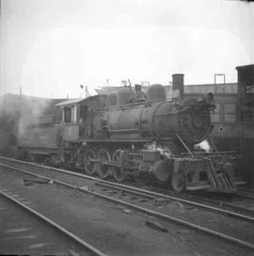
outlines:
[{"label": "farther steel rail of the empty full-width track, nearer the locomotive", "polygon": [[[107,184],[108,186],[111,185],[112,187],[113,186],[114,187],[119,186],[121,189],[124,189],[126,191],[127,190],[133,190],[132,193],[135,193],[135,192],[136,193],[143,193],[143,194],[147,194],[147,195],[150,195],[150,196],[153,196],[153,197],[160,197],[160,198],[168,199],[168,200],[178,200],[180,202],[187,203],[189,205],[193,205],[193,206],[203,208],[203,209],[207,209],[207,210],[210,210],[210,211],[214,211],[214,212],[217,212],[217,213],[220,213],[220,214],[223,214],[223,215],[234,216],[234,217],[246,219],[247,221],[254,222],[254,217],[252,217],[252,216],[246,216],[246,215],[234,213],[234,212],[231,212],[229,210],[224,210],[224,209],[214,207],[214,206],[211,206],[211,205],[198,203],[198,202],[193,201],[193,200],[184,200],[184,199],[181,199],[179,197],[174,197],[174,196],[169,196],[169,195],[165,195],[165,194],[162,194],[162,193],[152,192],[152,191],[149,191],[149,190],[141,189],[141,188],[126,185],[126,184],[116,184],[116,183],[104,181],[104,180],[101,180],[101,179],[96,178],[96,177],[88,176],[86,174],[76,173],[76,172],[66,170],[66,169],[41,166],[41,165],[38,165],[38,164],[35,164],[35,163],[24,162],[24,161],[21,161],[21,160],[11,159],[11,158],[7,158],[7,157],[3,157],[3,156],[0,156],[0,159],[5,159],[5,160],[11,161],[11,162],[16,162],[16,163],[22,163],[24,165],[34,166],[34,167],[37,167],[37,168],[44,168],[44,169],[49,169],[49,170],[55,170],[55,171],[61,172],[61,173],[71,174],[72,176],[77,176],[77,177],[81,177],[81,178],[84,178],[84,179],[87,179],[87,180],[91,180],[91,181],[94,181],[97,184],[101,184],[101,185]],[[3,165],[3,164],[0,164],[0,166],[1,165]],[[237,208],[238,210],[241,209],[241,210],[245,210],[245,211],[248,211],[248,212],[253,212],[253,211],[251,211],[249,209],[246,209],[246,208],[243,208],[243,207],[231,205],[230,203],[224,203],[223,202],[220,205],[226,205],[226,206],[229,206],[229,207]]]}]

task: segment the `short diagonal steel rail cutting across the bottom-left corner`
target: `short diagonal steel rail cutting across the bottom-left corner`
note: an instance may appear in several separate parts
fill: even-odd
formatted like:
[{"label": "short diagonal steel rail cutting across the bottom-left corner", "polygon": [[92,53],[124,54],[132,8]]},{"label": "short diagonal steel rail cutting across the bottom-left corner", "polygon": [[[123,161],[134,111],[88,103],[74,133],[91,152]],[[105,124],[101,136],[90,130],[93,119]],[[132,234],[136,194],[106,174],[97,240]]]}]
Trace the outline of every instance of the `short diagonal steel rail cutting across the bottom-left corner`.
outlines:
[{"label": "short diagonal steel rail cutting across the bottom-left corner", "polygon": [[61,227],[60,225],[58,225],[55,221],[49,219],[46,216],[41,215],[39,212],[33,210],[32,208],[26,206],[24,203],[22,203],[19,200],[14,199],[13,197],[9,196],[7,193],[5,193],[4,191],[0,190],[0,195],[7,198],[8,200],[11,200],[12,202],[16,203],[17,205],[19,205],[21,208],[23,208],[24,210],[26,210],[27,212],[29,212],[30,214],[38,217],[39,219],[43,220],[44,222],[46,222],[46,224],[54,227],[58,232],[62,232],[64,233],[66,236],[68,236],[69,238],[71,238],[74,242],[76,242],[79,246],[82,246],[83,248],[88,249],[90,252],[94,253],[95,255],[98,256],[106,256],[106,254],[104,254],[101,250],[99,250],[98,248],[94,248],[93,246],[91,246],[90,244],[88,244],[86,241],[84,241],[83,239],[81,239],[80,237],[78,237],[77,235],[73,234],[72,232],[69,232],[68,230],[66,230],[65,228]]}]

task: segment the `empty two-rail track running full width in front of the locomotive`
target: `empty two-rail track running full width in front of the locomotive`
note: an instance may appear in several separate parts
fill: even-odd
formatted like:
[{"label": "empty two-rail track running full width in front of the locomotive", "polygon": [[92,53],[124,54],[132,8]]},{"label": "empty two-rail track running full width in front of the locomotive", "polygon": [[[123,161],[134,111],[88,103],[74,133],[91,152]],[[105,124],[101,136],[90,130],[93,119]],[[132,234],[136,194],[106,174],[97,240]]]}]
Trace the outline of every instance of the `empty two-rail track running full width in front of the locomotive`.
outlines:
[{"label": "empty two-rail track running full width in front of the locomotive", "polygon": [[[67,186],[67,187],[70,187],[70,188],[73,188],[73,189],[77,189],[79,191],[86,192],[87,194],[103,198],[104,200],[110,200],[111,202],[115,202],[115,203],[124,205],[128,208],[132,208],[136,211],[145,213],[147,215],[155,216],[157,218],[161,218],[161,219],[166,220],[166,221],[172,221],[172,222],[175,222],[177,224],[183,225],[185,227],[194,229],[198,232],[205,232],[205,233],[213,235],[215,237],[223,238],[224,240],[230,241],[231,243],[234,243],[237,246],[241,246],[243,248],[248,248],[248,249],[254,250],[253,241],[245,241],[241,238],[236,238],[236,237],[231,236],[229,234],[226,234],[224,232],[219,232],[219,231],[215,231],[211,228],[203,227],[201,225],[198,225],[194,221],[189,221],[187,219],[183,219],[183,218],[176,217],[176,216],[170,216],[167,213],[163,213],[162,211],[154,210],[154,207],[153,207],[153,209],[151,209],[151,207],[148,207],[146,205],[146,203],[150,202],[151,200],[153,200],[153,202],[154,201],[158,202],[158,201],[161,201],[161,200],[166,200],[166,202],[167,202],[167,200],[177,200],[179,202],[182,201],[184,203],[192,204],[195,207],[206,208],[206,209],[215,211],[217,213],[223,213],[223,214],[227,214],[227,215],[230,215],[230,216],[241,217],[242,219],[245,219],[247,221],[253,221],[253,216],[244,216],[244,215],[240,215],[240,214],[232,213],[232,212],[230,213],[230,211],[225,212],[225,210],[215,208],[215,207],[211,207],[211,205],[208,206],[208,205],[204,205],[204,204],[201,204],[201,203],[198,203],[198,202],[195,202],[195,201],[173,198],[172,196],[163,195],[161,193],[155,193],[155,192],[152,192],[152,191],[136,188],[136,187],[125,185],[125,184],[110,183],[110,182],[107,182],[107,181],[102,181],[102,180],[97,179],[95,177],[90,177],[90,176],[79,174],[79,173],[73,173],[73,172],[68,171],[68,170],[57,169],[57,168],[49,168],[49,167],[36,165],[36,164],[33,164],[33,163],[27,163],[27,162],[12,160],[12,159],[3,158],[3,157],[1,157],[0,159],[1,159],[1,161],[6,161],[5,162],[6,164],[1,164],[0,165],[3,168],[10,168],[10,169],[15,170],[15,171],[22,171],[25,174],[33,175],[33,176],[36,176],[37,178],[48,180],[48,181],[53,182],[55,184],[61,184],[61,185],[64,185],[64,186]],[[8,163],[8,165],[7,165],[7,163]],[[15,163],[14,165],[16,165],[16,167],[10,166],[10,163]],[[33,172],[24,170],[24,168],[21,168],[22,165],[25,168],[33,168]],[[17,166],[19,166],[19,167],[17,167]],[[66,182],[66,179],[65,179],[65,181],[58,180],[58,179],[54,178],[54,176],[56,176],[56,171],[57,171],[57,173],[61,174],[60,175],[61,179],[63,179],[64,175],[65,176],[67,175],[69,177],[70,176],[75,176],[75,177],[82,178],[82,179],[85,178],[85,179],[88,179],[88,180],[92,181],[94,183],[95,187],[101,186],[101,187],[103,187],[103,189],[100,192],[95,192],[94,188],[91,189],[87,185],[80,185],[80,184],[76,184],[76,183]],[[35,173],[35,172],[39,172],[40,174]],[[41,175],[42,172],[43,172],[44,175]],[[52,172],[51,175],[50,175],[50,172]],[[45,176],[45,174],[46,174],[46,176]],[[116,192],[116,190],[118,190],[119,192]],[[110,195],[105,195],[107,192],[109,192]],[[120,196],[122,198],[125,197],[125,199],[118,199],[116,197],[116,194],[118,194],[118,193],[120,194]],[[133,197],[133,198],[135,198],[135,202],[134,202],[133,199],[131,201],[129,200],[130,196],[128,196],[128,193],[131,194],[131,195],[135,194],[135,197]],[[127,200],[126,200],[126,196],[128,198]],[[253,227],[250,227],[251,231],[253,230],[252,228]],[[252,236],[252,234],[250,234],[250,238],[251,238],[251,236]]]}]

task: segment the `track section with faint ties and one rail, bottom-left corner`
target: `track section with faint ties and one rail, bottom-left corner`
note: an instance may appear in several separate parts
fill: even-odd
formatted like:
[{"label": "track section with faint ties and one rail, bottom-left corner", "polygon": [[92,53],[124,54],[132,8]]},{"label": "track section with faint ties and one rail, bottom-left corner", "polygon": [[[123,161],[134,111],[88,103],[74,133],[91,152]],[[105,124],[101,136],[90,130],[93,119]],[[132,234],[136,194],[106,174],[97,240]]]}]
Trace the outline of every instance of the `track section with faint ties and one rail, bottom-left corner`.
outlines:
[{"label": "track section with faint ties and one rail, bottom-left corner", "polygon": [[[38,251],[35,251],[36,249],[43,248],[43,251],[45,252],[48,250],[47,247],[50,246],[51,250],[49,252],[51,252],[51,254],[55,254],[56,252],[58,252],[64,255],[66,251],[69,251],[67,255],[105,256],[105,254],[101,250],[94,248],[86,241],[76,236],[74,233],[69,232],[53,220],[49,219],[46,216],[43,216],[38,211],[35,211],[27,205],[27,201],[24,201],[24,199],[20,198],[18,195],[13,195],[6,188],[0,187],[0,203],[0,216],[2,216],[2,218],[5,219],[6,222],[8,222],[8,225],[10,223],[12,227],[12,229],[9,229],[8,227],[6,231],[4,231],[4,227],[1,227],[1,240],[5,241],[4,248],[0,248],[1,253],[13,252],[13,248],[15,248],[16,251],[14,252],[16,253],[24,252],[34,254],[38,253]],[[15,219],[17,223],[13,223],[15,222]],[[25,227],[24,223],[26,223]],[[43,225],[42,230],[45,228],[44,226],[46,226],[46,233],[44,234],[44,236],[41,235],[41,225]],[[29,232],[31,230],[33,232],[32,234],[26,233],[24,235],[24,232]],[[21,232],[22,235],[20,234]],[[18,235],[15,235],[16,233],[18,233]],[[35,242],[33,242],[33,244],[29,246],[16,248],[17,242],[15,242],[15,240],[24,239],[24,244],[25,242],[27,244],[27,240],[29,240],[29,238],[36,238],[38,236],[39,239],[37,240],[39,241],[36,241],[36,244],[34,244]],[[61,237],[60,241],[58,236]],[[62,237],[64,237],[64,239]],[[52,248],[52,241],[54,241],[54,248]],[[70,243],[71,245],[69,248],[68,244]],[[73,247],[75,249],[73,249]],[[52,249],[57,250],[52,251]]]}]

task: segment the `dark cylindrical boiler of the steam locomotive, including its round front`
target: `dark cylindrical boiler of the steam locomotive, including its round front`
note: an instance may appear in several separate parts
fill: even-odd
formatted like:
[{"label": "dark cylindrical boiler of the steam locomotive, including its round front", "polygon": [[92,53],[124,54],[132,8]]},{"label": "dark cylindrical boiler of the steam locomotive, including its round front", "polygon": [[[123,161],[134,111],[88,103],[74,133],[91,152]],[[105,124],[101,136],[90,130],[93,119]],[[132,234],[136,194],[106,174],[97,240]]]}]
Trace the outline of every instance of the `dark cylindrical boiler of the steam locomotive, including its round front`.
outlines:
[{"label": "dark cylindrical boiler of the steam locomotive, including its round front", "polygon": [[[153,86],[152,86],[153,87]],[[157,89],[164,89],[156,85]],[[126,88],[125,90],[128,90]],[[132,104],[109,108],[103,115],[104,129],[112,139],[169,139],[176,134],[188,143],[202,141],[211,130],[209,108],[199,99]]]}]

